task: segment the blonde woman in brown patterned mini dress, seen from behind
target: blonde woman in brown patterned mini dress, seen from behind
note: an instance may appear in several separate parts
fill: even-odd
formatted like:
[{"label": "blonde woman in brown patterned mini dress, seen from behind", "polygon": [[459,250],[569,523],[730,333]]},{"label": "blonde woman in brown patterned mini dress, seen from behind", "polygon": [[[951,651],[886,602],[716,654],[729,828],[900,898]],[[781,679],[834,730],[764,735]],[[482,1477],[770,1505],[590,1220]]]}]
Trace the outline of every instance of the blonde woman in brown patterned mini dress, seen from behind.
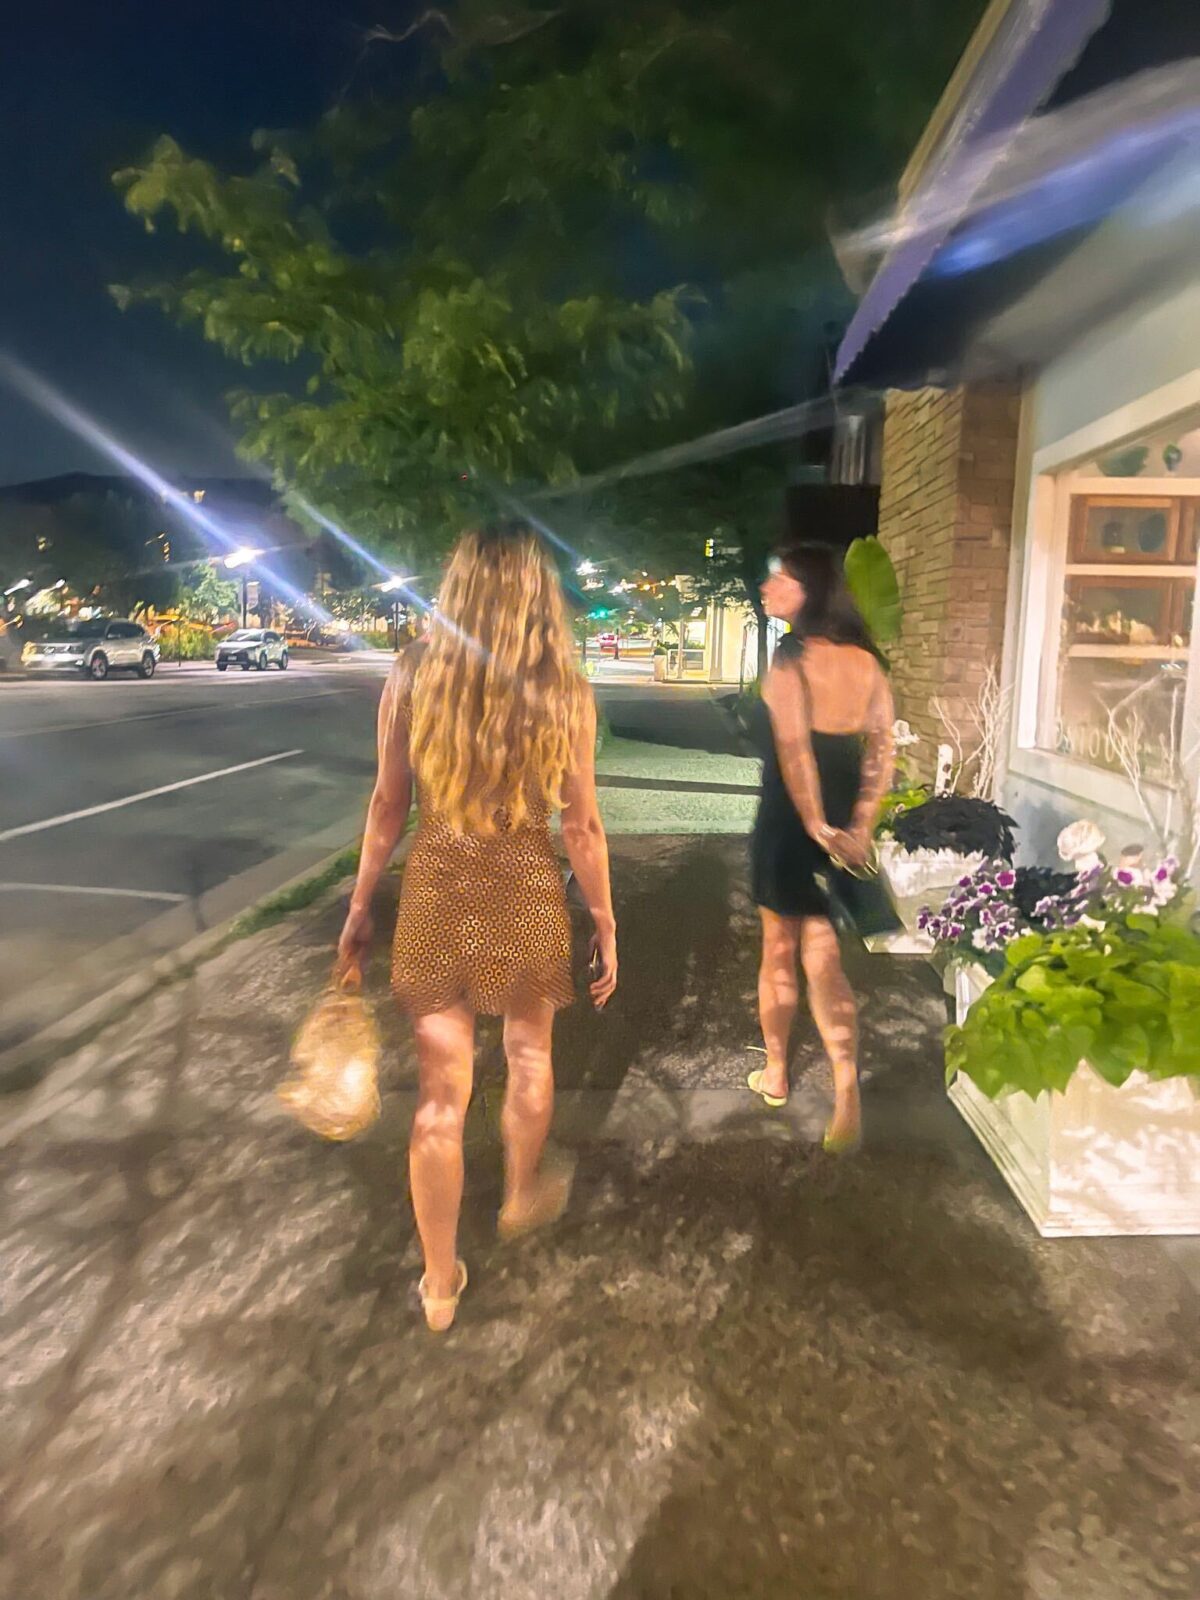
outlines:
[{"label": "blonde woman in brown patterned mini dress, seen from behind", "polygon": [[554,1109],[554,1014],[574,998],[563,875],[595,923],[592,1002],[616,989],[608,842],[595,797],[595,704],[576,669],[558,574],[520,525],[467,533],[446,568],[429,638],[392,669],[379,709],[379,774],[339,957],[362,957],[371,898],[408,824],[392,989],[416,1035],[421,1090],[410,1182],[434,1331],[450,1328],[467,1269],[458,1258],[462,1123],[475,1016],[504,1018],[509,1066],[502,1237],[554,1221],[566,1178],[542,1170]]}]

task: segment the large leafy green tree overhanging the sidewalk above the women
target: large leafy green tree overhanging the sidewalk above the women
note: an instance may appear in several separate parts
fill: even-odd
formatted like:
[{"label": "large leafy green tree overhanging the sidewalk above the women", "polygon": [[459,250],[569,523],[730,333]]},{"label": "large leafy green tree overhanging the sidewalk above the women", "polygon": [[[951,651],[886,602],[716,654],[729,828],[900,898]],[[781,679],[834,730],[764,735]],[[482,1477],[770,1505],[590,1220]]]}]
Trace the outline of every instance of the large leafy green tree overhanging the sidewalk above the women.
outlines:
[{"label": "large leafy green tree overhanging the sidewalk above the women", "polygon": [[[162,138],[118,173],[147,227],[205,248],[117,296],[290,363],[288,386],[234,395],[245,453],[413,570],[510,493],[819,390],[848,310],[830,206],[891,176],[979,13],[459,0],[422,14],[421,72],[382,35],[370,93],[256,134],[251,170]],[[754,603],[784,462],[622,488],[576,520]]]}]

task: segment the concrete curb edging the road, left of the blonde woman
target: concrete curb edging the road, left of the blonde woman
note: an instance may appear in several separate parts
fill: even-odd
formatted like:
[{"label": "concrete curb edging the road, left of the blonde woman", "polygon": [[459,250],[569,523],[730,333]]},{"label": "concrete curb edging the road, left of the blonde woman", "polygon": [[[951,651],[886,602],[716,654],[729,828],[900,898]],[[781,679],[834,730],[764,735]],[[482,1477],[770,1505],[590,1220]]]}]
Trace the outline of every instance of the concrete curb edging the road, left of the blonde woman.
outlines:
[{"label": "concrete curb edging the road, left of the blonde woman", "polygon": [[[288,878],[286,883],[280,883],[277,888],[270,890],[270,893],[261,894],[250,906],[243,906],[240,910],[230,914],[214,928],[206,928],[186,944],[181,944],[176,950],[155,957],[155,960],[150,962],[150,965],[142,971],[114,984],[114,987],[110,987],[106,994],[85,1002],[74,1011],[61,1016],[56,1022],[51,1022],[48,1027],[34,1034],[30,1038],[26,1038],[19,1045],[13,1045],[11,1050],[0,1053],[0,1107],[3,1106],[2,1098],[5,1094],[18,1094],[42,1086],[46,1080],[38,1077],[38,1069],[45,1067],[46,1062],[51,1062],[58,1056],[64,1056],[69,1051],[80,1050],[102,1029],[118,1022],[123,1016],[128,1016],[130,1011],[141,1005],[142,1000],[147,1000],[152,994],[178,982],[181,978],[190,978],[198,966],[202,966],[206,960],[211,960],[214,955],[219,955],[226,946],[240,938],[238,925],[246,917],[277,899],[280,894],[286,894],[288,891],[307,883],[310,878],[320,877],[322,872],[326,872],[350,848],[352,842],[342,845],[341,850],[331,851],[323,859],[306,867],[304,872],[298,872],[293,878]],[[288,915],[290,914],[285,914],[282,920],[286,922]],[[70,1082],[74,1082],[74,1078],[67,1077],[59,1086],[67,1086]],[[10,1138],[8,1130],[0,1130],[0,1144],[3,1144],[6,1138]]]}]

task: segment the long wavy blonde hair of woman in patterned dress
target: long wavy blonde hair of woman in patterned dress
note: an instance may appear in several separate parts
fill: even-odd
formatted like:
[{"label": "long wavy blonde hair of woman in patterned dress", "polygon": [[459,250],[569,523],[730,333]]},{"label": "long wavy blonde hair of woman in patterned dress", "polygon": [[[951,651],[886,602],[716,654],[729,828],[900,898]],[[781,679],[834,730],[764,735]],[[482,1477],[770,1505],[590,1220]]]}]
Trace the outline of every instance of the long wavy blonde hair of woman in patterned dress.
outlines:
[{"label": "long wavy blonde hair of woman in patterned dress", "polygon": [[541,541],[517,523],[466,533],[413,683],[410,749],[426,810],[482,835],[558,810],[586,694]]}]

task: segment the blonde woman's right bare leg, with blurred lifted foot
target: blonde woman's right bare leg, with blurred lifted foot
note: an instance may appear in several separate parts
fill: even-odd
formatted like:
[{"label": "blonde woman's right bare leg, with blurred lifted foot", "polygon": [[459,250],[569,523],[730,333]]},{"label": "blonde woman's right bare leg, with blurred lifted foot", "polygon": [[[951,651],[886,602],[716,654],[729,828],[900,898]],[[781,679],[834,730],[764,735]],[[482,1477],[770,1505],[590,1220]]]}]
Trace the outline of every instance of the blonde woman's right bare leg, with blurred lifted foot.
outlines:
[{"label": "blonde woman's right bare leg, with blurred lifted foot", "polygon": [[501,1114],[504,1139],[504,1203],[501,1232],[523,1232],[562,1214],[568,1173],[544,1173],[542,1150],[554,1117],[550,1043],[554,1006],[533,1002],[504,1018],[509,1083]]}]

